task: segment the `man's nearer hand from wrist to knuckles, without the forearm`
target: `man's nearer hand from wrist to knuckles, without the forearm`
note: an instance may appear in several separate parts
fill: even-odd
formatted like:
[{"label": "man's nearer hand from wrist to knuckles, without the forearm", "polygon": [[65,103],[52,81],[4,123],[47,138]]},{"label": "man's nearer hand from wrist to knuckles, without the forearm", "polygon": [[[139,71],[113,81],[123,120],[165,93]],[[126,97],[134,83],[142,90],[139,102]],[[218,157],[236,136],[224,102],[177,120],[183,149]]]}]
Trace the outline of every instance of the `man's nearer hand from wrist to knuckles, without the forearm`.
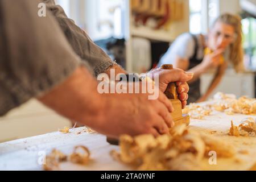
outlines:
[{"label": "man's nearer hand from wrist to knuckles, without the forearm", "polygon": [[148,100],[148,94],[108,94],[104,102],[102,133],[110,137],[122,134],[156,137],[167,134],[174,126],[170,114],[174,109],[163,93],[158,100]]}]

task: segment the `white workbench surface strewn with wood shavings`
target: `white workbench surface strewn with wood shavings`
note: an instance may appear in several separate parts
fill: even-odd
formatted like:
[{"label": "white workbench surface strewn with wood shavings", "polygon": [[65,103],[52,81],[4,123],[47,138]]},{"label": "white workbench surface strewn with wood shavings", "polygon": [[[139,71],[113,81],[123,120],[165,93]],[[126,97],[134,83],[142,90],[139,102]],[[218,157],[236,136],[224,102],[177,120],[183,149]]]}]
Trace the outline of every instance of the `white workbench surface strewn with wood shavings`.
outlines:
[{"label": "white workbench surface strewn with wood shavings", "polygon": [[[215,112],[215,111],[214,111]],[[248,170],[256,164],[256,138],[255,137],[230,137],[228,130],[230,121],[238,123],[248,115],[226,115],[224,113],[213,113],[205,120],[192,119],[193,129],[204,133],[216,131],[213,135],[221,137],[236,146],[236,150],[246,150],[248,154],[240,154],[240,162],[230,159],[219,159],[216,166],[209,166],[207,169],[213,170]],[[251,116],[254,117],[255,116]],[[75,129],[69,134],[59,132],[40,135],[25,139],[14,140],[11,142],[0,143],[0,170],[41,170],[38,164],[39,152],[50,152],[52,148],[70,154],[74,146],[84,145],[89,148],[92,154],[92,162],[88,166],[77,166],[70,163],[61,165],[61,169],[67,170],[130,170],[130,167],[115,162],[109,155],[113,149],[118,150],[117,146],[110,146],[106,142],[106,137],[100,134],[82,133],[77,135],[82,128]],[[42,154],[42,153],[41,153]]]}]

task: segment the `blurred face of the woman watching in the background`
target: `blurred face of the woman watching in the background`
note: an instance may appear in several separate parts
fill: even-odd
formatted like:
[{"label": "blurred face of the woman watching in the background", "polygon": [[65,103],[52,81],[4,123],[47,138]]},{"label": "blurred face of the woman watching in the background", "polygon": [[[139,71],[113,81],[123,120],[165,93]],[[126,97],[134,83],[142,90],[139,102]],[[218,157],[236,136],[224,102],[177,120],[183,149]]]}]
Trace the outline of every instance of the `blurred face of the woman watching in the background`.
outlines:
[{"label": "blurred face of the woman watching in the background", "polygon": [[226,49],[235,39],[233,26],[222,22],[216,22],[208,36],[208,47],[213,51],[216,49]]}]

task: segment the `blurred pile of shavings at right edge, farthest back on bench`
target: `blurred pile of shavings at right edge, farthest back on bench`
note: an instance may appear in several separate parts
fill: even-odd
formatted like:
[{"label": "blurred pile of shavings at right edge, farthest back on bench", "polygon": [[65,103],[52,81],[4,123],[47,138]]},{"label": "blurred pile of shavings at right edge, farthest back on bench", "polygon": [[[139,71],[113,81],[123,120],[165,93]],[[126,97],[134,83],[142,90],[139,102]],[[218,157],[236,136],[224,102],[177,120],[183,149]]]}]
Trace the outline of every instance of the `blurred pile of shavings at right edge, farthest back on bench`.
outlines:
[{"label": "blurred pile of shavings at right edge, farthest back on bench", "polygon": [[246,96],[236,98],[233,94],[217,93],[214,96],[213,108],[217,111],[225,112],[228,115],[256,114],[256,99]]}]

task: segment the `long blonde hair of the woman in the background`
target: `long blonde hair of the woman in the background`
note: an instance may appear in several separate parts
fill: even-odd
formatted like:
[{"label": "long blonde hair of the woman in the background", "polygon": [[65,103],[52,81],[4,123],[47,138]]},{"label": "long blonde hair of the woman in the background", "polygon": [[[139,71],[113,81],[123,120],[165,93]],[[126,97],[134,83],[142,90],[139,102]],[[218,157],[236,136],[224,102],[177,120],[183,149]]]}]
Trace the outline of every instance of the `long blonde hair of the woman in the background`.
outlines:
[{"label": "long blonde hair of the woman in the background", "polygon": [[234,69],[236,72],[244,71],[243,66],[243,45],[242,45],[242,22],[241,18],[238,15],[233,14],[222,14],[220,15],[213,23],[213,26],[217,23],[225,23],[234,27],[236,32],[236,37],[234,38],[234,42],[230,44],[230,60],[234,65]]}]

